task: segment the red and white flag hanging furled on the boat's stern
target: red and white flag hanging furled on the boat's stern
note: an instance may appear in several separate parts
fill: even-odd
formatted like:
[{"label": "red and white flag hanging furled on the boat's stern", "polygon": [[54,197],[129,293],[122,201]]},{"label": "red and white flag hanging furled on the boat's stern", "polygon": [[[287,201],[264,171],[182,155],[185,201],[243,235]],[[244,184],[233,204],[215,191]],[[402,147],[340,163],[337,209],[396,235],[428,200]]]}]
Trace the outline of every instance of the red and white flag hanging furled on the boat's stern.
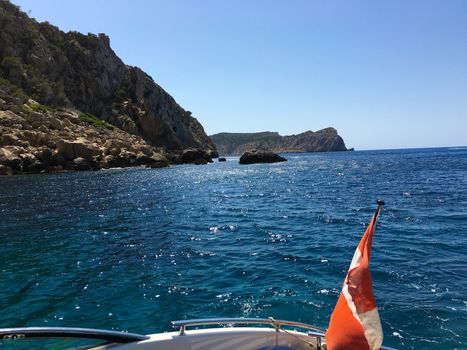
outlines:
[{"label": "red and white flag hanging furled on the boat's stern", "polygon": [[373,295],[370,254],[380,207],[358,245],[326,332],[328,350],[375,350],[383,331]]}]

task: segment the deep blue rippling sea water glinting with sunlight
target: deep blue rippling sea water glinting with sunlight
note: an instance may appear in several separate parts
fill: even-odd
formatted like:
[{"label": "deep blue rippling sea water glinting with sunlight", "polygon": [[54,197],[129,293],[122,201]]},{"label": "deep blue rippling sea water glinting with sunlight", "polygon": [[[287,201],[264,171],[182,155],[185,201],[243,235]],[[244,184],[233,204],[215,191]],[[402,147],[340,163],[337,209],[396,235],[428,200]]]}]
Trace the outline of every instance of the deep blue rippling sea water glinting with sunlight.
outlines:
[{"label": "deep blue rippling sea water glinting with sunlight", "polygon": [[0,177],[0,327],[326,327],[382,198],[371,269],[384,344],[466,349],[467,148],[286,157]]}]

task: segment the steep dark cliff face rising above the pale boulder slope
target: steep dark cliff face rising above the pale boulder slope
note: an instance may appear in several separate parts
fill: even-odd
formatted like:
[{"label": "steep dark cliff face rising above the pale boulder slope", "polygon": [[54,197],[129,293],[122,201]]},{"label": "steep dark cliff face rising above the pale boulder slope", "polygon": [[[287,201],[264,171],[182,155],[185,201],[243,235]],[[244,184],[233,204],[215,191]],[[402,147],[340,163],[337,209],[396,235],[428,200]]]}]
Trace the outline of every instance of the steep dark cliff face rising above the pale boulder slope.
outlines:
[{"label": "steep dark cliff face rising above the pale boulder slope", "polygon": [[0,83],[52,106],[75,108],[169,150],[214,151],[201,124],[136,67],[105,34],[64,33],[0,1]]}]

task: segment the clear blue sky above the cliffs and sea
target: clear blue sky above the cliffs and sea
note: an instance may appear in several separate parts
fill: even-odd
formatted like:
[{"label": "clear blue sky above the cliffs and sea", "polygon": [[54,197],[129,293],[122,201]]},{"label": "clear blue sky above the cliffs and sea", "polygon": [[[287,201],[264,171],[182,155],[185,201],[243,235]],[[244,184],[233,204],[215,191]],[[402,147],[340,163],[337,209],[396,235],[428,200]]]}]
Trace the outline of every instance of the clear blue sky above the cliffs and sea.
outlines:
[{"label": "clear blue sky above the cliffs and sea", "polygon": [[105,32],[208,134],[333,126],[356,149],[467,145],[465,0],[14,0]]}]

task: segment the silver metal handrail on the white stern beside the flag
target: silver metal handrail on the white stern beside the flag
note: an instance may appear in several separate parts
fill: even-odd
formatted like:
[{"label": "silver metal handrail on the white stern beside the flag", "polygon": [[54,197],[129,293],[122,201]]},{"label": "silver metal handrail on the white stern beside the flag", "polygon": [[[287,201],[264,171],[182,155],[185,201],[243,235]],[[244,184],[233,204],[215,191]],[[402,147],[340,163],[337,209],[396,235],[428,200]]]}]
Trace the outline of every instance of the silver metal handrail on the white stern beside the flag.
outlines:
[{"label": "silver metal handrail on the white stern beside the flag", "polygon": [[[279,329],[281,326],[291,326],[298,327],[303,329],[310,329],[313,331],[313,335],[322,335],[324,336],[325,330],[316,326],[312,326],[307,323],[294,322],[294,321],[284,321],[284,320],[275,320],[273,318],[201,318],[194,320],[180,320],[172,321],[172,327],[180,328],[180,335],[184,335],[186,327],[194,326],[207,326],[207,325],[223,325],[223,324],[268,324],[276,329]],[[318,333],[315,333],[318,332]]]}]

